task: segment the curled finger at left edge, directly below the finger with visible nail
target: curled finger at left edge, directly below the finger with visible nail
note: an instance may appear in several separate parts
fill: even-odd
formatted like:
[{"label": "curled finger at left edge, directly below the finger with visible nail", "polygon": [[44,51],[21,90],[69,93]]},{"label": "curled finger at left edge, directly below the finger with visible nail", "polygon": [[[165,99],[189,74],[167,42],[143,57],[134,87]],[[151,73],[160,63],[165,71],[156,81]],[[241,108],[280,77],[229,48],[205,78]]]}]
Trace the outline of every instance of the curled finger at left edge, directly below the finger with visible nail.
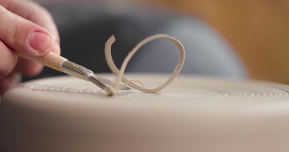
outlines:
[{"label": "curled finger at left edge, directly below the finger with visible nail", "polygon": [[0,40],[0,78],[11,73],[16,63],[16,54]]}]

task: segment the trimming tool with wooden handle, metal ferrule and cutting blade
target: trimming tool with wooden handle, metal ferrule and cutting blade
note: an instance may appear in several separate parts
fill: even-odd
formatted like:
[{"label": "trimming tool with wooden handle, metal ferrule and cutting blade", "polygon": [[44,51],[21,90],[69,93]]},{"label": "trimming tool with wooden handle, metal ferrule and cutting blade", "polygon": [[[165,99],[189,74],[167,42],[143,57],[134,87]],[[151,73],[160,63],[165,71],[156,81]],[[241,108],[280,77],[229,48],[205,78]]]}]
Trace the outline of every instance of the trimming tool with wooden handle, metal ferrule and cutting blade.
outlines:
[{"label": "trimming tool with wooden handle, metal ferrule and cutting blade", "polygon": [[[41,63],[49,68],[58,70],[60,72],[66,73],[68,75],[90,81],[96,86],[104,90],[108,95],[113,95],[113,92],[109,88],[112,84],[111,80],[97,76],[91,70],[80,66],[68,59],[61,57],[53,52],[50,52],[47,56],[44,57],[32,57],[25,54],[22,54],[18,51],[15,51],[19,57],[24,57],[26,59]],[[120,91],[130,92],[132,89],[130,87],[119,85]]]}]

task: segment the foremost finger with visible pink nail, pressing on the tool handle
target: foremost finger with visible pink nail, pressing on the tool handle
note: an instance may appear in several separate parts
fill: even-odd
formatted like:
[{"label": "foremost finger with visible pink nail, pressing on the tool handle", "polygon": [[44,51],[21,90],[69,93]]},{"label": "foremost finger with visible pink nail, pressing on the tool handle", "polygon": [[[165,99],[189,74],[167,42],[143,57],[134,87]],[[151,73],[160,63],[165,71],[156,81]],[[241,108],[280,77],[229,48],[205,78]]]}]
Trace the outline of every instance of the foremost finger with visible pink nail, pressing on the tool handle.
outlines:
[{"label": "foremost finger with visible pink nail, pressing on the tool handle", "polygon": [[43,27],[17,16],[0,5],[0,39],[30,56],[45,56],[54,49],[54,40]]}]

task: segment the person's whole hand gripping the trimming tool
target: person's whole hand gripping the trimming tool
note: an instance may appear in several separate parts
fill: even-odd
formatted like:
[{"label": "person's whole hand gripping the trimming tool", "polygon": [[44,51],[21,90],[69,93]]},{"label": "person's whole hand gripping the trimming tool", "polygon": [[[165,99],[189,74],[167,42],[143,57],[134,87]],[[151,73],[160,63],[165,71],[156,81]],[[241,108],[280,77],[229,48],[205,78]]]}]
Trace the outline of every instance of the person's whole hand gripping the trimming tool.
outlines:
[{"label": "person's whole hand gripping the trimming tool", "polygon": [[17,73],[39,74],[43,65],[17,57],[60,54],[60,39],[48,11],[30,0],[0,0],[0,96],[17,83]]}]

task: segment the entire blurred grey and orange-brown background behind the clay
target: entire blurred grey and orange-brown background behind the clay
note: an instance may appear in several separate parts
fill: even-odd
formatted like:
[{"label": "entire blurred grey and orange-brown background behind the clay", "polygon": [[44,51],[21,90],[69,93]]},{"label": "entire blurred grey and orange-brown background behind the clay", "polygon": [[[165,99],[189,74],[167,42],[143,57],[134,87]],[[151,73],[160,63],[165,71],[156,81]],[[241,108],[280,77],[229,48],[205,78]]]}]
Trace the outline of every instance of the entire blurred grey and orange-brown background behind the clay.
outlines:
[{"label": "entire blurred grey and orange-brown background behind the clay", "polygon": [[[186,49],[183,74],[289,83],[288,0],[35,0],[52,14],[62,56],[110,72],[104,44],[120,67],[142,39],[167,34]],[[171,73],[178,51],[168,40],[145,45],[127,72]],[[62,73],[45,68],[38,77]],[[24,78],[28,80],[31,78]]]}]

